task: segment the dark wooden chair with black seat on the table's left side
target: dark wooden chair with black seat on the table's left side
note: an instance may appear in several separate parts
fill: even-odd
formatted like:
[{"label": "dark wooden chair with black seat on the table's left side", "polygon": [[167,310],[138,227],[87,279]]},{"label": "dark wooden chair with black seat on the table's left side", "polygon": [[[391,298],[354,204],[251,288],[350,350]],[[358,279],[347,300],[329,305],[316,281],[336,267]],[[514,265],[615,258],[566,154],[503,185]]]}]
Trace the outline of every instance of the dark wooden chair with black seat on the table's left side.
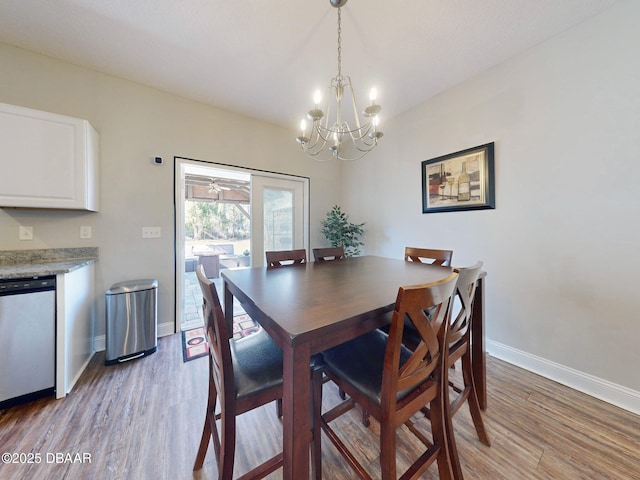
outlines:
[{"label": "dark wooden chair with black seat on the table's left side", "polygon": [[[196,276],[202,290],[209,344],[209,394],[193,470],[202,468],[213,437],[218,479],[230,480],[235,461],[236,417],[282,398],[282,350],[262,328],[239,340],[229,338],[215,284],[206,277],[202,265],[197,267]],[[313,379],[313,371],[311,375]],[[220,413],[216,413],[218,400]],[[319,434],[312,441],[314,468],[319,463],[314,452],[320,451],[316,441],[320,441]],[[280,452],[239,478],[264,478],[282,465]],[[319,475],[319,471],[314,473],[314,478],[319,479]]]}]

